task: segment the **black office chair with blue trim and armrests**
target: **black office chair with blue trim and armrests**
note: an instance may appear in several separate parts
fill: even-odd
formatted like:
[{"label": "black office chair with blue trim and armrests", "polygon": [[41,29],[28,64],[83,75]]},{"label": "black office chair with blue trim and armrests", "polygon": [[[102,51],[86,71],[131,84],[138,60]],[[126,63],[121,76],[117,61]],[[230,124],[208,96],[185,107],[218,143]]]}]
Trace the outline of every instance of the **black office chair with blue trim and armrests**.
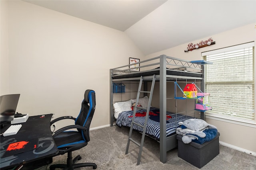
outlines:
[{"label": "black office chair with blue trim and armrests", "polygon": [[[97,168],[95,163],[80,163],[75,164],[77,160],[81,159],[78,155],[72,160],[72,151],[85,147],[90,141],[89,128],[92,121],[96,106],[95,92],[93,90],[86,90],[84,93],[84,100],[82,101],[81,111],[77,118],[72,116],[59,117],[51,121],[51,125],[63,119],[73,119],[75,125],[63,127],[53,133],[54,141],[59,149],[58,155],[68,152],[67,164],[54,164],[50,166],[50,170],[55,168],[63,168],[64,170],[73,170],[85,166],[92,166]],[[78,131],[66,131],[68,129],[77,129]]]}]

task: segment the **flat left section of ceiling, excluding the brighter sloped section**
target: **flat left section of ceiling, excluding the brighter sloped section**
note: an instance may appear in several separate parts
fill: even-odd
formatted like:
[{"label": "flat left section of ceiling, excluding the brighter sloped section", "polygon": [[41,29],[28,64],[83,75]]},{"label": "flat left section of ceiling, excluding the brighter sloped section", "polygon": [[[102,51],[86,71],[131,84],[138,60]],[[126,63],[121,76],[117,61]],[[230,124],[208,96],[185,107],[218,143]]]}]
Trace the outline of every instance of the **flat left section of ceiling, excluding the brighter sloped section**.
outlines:
[{"label": "flat left section of ceiling, excluding the brighter sloped section", "polygon": [[62,12],[125,31],[167,0],[24,0],[38,6]]}]

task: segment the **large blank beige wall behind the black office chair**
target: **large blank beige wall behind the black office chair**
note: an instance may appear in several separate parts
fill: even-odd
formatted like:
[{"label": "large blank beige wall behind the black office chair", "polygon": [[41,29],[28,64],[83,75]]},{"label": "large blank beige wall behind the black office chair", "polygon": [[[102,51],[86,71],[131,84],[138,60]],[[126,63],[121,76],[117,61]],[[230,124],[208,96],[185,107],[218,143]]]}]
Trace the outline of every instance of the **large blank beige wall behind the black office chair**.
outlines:
[{"label": "large blank beige wall behind the black office chair", "polygon": [[2,81],[1,75],[1,84],[8,84],[9,90],[1,95],[20,93],[21,113],[76,117],[84,91],[92,89],[96,111],[91,127],[109,125],[109,69],[128,64],[131,56],[144,56],[130,38],[23,1],[8,1],[5,10],[9,81]]}]

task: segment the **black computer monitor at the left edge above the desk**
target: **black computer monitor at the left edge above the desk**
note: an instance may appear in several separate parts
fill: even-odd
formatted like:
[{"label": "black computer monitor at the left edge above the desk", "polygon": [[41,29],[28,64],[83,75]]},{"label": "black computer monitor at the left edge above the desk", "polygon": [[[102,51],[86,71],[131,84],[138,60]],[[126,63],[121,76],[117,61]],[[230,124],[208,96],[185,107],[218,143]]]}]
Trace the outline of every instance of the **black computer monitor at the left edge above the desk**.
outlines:
[{"label": "black computer monitor at the left edge above the desk", "polygon": [[13,120],[19,98],[20,94],[0,96],[0,125]]}]

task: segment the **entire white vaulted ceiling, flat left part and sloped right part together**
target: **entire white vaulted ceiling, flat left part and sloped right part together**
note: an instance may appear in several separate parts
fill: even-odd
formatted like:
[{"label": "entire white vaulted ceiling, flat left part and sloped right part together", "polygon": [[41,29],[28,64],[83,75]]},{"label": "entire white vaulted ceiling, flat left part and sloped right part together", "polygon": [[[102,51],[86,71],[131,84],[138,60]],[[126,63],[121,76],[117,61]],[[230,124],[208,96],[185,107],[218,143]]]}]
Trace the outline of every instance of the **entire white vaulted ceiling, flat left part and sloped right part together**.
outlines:
[{"label": "entire white vaulted ceiling, flat left part and sloped right part together", "polygon": [[256,23],[256,0],[24,0],[124,31],[145,54]]}]

